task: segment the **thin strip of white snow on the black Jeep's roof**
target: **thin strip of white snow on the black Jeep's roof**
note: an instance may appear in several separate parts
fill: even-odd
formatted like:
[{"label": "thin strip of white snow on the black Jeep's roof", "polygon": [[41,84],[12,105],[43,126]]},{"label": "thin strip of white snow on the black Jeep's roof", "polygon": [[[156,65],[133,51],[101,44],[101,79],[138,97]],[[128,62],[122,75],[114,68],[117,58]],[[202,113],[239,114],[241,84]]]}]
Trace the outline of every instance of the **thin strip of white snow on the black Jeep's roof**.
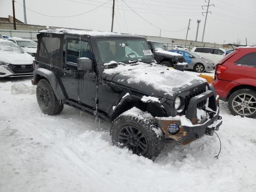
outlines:
[{"label": "thin strip of white snow on the black Jeep's roof", "polygon": [[101,31],[86,31],[86,30],[75,30],[75,29],[44,29],[40,30],[39,32],[48,32],[48,33],[57,33],[57,34],[77,34],[77,35],[88,35],[88,36],[109,36],[109,35],[116,35],[120,33],[113,33],[113,32],[101,32]]}]

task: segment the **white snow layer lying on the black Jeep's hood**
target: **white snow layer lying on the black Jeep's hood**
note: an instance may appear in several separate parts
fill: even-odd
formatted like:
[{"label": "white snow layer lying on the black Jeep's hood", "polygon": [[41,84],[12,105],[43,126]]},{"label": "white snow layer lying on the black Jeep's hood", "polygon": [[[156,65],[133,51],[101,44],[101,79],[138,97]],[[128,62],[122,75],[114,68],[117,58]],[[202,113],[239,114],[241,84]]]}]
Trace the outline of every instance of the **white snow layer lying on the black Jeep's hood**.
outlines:
[{"label": "white snow layer lying on the black Jeep's hood", "polygon": [[118,64],[115,68],[104,69],[105,74],[117,74],[128,77],[128,84],[140,84],[152,86],[155,90],[163,91],[173,95],[174,91],[191,85],[192,80],[201,83],[206,82],[204,78],[196,77],[178,70],[169,70],[158,64],[145,64],[138,62],[137,65]]}]

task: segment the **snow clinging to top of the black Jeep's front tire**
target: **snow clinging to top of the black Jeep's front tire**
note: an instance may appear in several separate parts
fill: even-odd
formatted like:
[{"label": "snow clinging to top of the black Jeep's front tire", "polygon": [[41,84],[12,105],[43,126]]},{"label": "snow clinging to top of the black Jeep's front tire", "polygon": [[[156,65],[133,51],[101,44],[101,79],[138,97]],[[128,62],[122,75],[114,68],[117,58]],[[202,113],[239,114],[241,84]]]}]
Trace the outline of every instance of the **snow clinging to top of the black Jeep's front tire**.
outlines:
[{"label": "snow clinging to top of the black Jeep's front tire", "polygon": [[[126,112],[123,112],[120,116],[134,116],[134,117],[137,117],[138,119],[140,120],[143,120],[145,123],[148,121],[148,120],[152,120],[154,119],[154,117],[148,113],[148,112],[143,112],[142,110],[136,108],[136,107],[133,107],[131,108],[130,110],[127,110]],[[150,125],[150,128],[152,130],[154,130],[154,132],[156,133],[156,135],[159,137],[159,136],[162,136],[163,132],[162,130],[160,129],[160,127],[156,127],[154,126],[153,124]]]}]

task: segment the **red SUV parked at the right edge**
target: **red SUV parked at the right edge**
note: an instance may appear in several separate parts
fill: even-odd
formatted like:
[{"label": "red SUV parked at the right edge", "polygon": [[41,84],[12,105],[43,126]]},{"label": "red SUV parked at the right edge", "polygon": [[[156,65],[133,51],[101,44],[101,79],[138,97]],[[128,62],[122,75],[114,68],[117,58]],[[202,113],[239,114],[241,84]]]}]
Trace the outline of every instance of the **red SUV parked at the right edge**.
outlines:
[{"label": "red SUV parked at the right edge", "polygon": [[236,48],[218,62],[213,86],[232,114],[256,116],[256,48]]}]

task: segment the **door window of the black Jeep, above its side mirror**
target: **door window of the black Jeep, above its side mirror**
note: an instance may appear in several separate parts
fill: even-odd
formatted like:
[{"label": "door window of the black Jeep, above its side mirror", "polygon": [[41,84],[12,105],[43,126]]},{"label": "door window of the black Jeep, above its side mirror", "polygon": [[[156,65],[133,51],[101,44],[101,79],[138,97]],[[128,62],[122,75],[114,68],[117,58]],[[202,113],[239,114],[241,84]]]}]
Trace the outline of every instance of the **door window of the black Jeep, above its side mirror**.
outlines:
[{"label": "door window of the black Jeep, above its side mirror", "polygon": [[88,42],[76,39],[68,39],[67,42],[67,62],[76,64],[76,60],[81,57],[86,57],[92,60],[92,53],[90,51],[90,45]]}]

